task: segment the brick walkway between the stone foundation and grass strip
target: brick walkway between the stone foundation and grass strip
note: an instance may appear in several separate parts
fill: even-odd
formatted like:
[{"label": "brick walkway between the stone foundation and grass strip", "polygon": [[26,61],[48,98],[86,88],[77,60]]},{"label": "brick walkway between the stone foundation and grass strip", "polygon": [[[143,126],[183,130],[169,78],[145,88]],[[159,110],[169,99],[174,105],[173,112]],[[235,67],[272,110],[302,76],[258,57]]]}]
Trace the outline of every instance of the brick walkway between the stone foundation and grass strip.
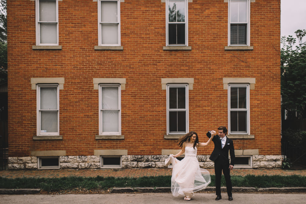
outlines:
[{"label": "brick walkway between the stone foundation and grass strip", "polygon": [[[211,174],[214,169],[207,169]],[[52,169],[52,170],[0,170],[0,176],[6,178],[20,177],[66,177],[66,176],[115,176],[115,177],[140,177],[140,176],[166,176],[171,175],[172,169]],[[282,170],[282,169],[234,169],[231,175],[246,176],[251,175],[300,175],[306,176],[306,169],[302,170]]]}]

